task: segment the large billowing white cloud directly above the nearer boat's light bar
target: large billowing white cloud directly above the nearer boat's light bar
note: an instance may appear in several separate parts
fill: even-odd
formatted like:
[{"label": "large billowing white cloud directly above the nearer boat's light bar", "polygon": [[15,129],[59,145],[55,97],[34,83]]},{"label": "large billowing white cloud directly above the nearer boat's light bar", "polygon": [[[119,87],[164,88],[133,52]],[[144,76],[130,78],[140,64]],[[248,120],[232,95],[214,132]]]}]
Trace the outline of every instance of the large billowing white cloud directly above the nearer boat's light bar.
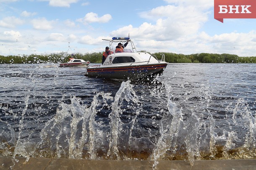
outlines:
[{"label": "large billowing white cloud directly above the nearer boat's light bar", "polygon": [[[165,13],[162,11],[165,11]],[[185,8],[173,5],[154,8],[141,13],[141,16],[150,19],[155,18],[156,23],[145,22],[138,28],[129,25],[112,31],[111,35],[123,36],[130,33],[135,37],[157,41],[175,40],[197,33],[201,25],[208,19],[207,13],[196,11],[192,6]]]}]

